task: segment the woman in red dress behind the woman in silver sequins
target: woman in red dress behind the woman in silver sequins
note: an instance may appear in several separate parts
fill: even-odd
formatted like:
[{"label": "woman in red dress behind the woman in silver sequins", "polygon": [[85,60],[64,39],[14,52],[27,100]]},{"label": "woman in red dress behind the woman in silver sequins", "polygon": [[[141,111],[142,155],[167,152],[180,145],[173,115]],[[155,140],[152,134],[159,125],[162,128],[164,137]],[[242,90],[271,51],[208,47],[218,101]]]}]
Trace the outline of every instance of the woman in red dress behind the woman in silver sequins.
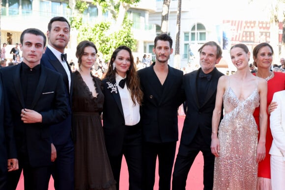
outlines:
[{"label": "woman in red dress behind the woman in silver sequins", "polygon": [[[274,92],[285,89],[285,73],[270,71],[273,54],[273,48],[268,43],[260,43],[253,50],[254,65],[257,67],[257,72],[254,75],[267,81],[267,107],[272,101]],[[254,116],[259,130],[259,108],[256,108]],[[269,150],[273,138],[269,127],[269,118],[270,116],[268,113],[265,144],[266,156],[263,161],[258,163],[257,190],[271,190]]]}]

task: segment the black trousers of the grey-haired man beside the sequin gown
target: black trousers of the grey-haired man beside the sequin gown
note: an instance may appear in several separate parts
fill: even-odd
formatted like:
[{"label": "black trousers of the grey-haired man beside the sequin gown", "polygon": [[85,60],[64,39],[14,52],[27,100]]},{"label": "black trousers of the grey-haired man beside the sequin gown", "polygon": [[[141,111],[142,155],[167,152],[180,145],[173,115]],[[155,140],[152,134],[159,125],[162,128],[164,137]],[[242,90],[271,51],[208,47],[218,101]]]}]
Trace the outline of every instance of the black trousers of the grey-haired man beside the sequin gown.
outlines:
[{"label": "black trousers of the grey-haired man beside the sequin gown", "polygon": [[198,129],[196,136],[190,144],[185,145],[180,143],[172,175],[172,190],[185,190],[189,170],[199,151],[203,153],[204,159],[204,190],[213,189],[215,157],[211,152],[210,145],[205,143]]}]

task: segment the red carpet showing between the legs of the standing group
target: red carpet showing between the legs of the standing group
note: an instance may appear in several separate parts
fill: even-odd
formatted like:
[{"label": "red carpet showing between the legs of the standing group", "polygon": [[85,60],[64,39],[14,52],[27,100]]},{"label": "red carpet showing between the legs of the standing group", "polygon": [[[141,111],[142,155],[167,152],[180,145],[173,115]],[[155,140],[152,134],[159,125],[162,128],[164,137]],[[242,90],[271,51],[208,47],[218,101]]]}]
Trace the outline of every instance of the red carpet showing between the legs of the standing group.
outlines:
[{"label": "red carpet showing between the legs of the standing group", "polygon": [[[178,116],[178,126],[179,126],[179,138],[181,136],[181,131],[183,127],[185,116],[179,115]],[[177,142],[176,154],[178,152],[179,147],[179,140]],[[156,169],[156,179],[154,184],[154,190],[158,190],[158,163]],[[120,177],[120,190],[128,190],[129,183],[128,183],[128,169],[125,160],[123,159],[122,162],[122,169],[121,169],[121,177]],[[49,190],[55,190],[53,187],[54,181],[51,179]],[[186,190],[203,190],[203,157],[201,152],[197,156],[195,162],[192,165],[192,168],[188,174],[187,183],[186,183]],[[24,178],[23,175],[20,178],[17,190],[24,190]]]}]

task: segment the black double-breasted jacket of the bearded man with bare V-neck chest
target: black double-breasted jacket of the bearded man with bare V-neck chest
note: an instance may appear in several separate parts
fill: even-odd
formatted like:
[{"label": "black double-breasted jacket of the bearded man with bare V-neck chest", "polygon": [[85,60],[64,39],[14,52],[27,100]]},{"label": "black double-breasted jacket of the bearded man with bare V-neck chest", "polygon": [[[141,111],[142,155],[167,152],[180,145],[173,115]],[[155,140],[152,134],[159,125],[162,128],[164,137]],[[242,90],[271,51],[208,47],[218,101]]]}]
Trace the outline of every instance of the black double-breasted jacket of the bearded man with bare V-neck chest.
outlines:
[{"label": "black double-breasted jacket of the bearded man with bare V-neck chest", "polygon": [[183,72],[169,66],[164,91],[159,98],[161,85],[153,66],[138,71],[143,91],[142,137],[146,142],[175,142],[178,140],[177,109],[181,105]]}]

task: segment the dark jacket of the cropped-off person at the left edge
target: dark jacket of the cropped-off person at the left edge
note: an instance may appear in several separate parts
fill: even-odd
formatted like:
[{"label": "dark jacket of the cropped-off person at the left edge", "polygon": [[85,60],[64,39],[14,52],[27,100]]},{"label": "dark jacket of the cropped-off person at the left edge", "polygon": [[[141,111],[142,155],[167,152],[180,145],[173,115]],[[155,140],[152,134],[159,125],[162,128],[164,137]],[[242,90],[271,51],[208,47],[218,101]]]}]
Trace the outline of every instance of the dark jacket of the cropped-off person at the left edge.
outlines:
[{"label": "dark jacket of the cropped-off person at the left edge", "polygon": [[7,171],[7,159],[17,158],[11,112],[5,94],[0,75],[0,174]]}]

